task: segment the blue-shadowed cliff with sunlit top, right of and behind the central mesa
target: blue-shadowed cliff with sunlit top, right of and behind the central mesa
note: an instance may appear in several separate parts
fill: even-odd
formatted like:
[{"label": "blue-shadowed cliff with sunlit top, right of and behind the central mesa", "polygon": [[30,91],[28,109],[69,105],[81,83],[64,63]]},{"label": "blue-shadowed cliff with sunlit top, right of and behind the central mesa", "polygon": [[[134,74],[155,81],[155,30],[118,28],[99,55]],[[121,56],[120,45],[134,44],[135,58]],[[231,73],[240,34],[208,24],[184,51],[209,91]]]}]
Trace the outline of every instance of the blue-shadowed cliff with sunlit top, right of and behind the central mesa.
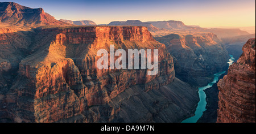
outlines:
[{"label": "blue-shadowed cliff with sunlit top, right of and behind the central mesa", "polygon": [[170,34],[155,39],[165,44],[174,57],[177,77],[192,84],[205,85],[205,77],[228,67],[228,52],[213,33]]}]

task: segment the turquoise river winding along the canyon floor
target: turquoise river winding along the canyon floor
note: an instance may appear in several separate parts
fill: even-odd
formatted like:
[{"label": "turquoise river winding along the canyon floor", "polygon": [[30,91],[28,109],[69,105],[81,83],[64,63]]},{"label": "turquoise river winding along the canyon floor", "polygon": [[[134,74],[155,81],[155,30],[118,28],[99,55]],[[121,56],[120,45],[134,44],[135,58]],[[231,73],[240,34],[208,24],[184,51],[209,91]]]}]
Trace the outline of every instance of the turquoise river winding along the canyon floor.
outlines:
[{"label": "turquoise river winding along the canyon floor", "polygon": [[[229,63],[229,66],[230,66],[230,65],[233,64],[235,59],[234,59],[233,55],[229,54],[229,56],[230,56],[230,59],[229,59],[228,63]],[[199,93],[200,101],[197,103],[197,107],[196,107],[196,111],[195,111],[195,116],[187,118],[187,119],[183,120],[181,123],[196,123],[197,122],[197,120],[203,115],[203,112],[206,110],[205,107],[207,105],[207,101],[205,100],[206,94],[204,92],[204,89],[212,87],[212,85],[218,81],[218,78],[222,74],[224,74],[225,72],[226,71],[218,72],[218,73],[214,74],[214,79],[213,79],[213,81],[211,83],[209,83],[205,87],[200,87],[199,88],[198,93]]]}]

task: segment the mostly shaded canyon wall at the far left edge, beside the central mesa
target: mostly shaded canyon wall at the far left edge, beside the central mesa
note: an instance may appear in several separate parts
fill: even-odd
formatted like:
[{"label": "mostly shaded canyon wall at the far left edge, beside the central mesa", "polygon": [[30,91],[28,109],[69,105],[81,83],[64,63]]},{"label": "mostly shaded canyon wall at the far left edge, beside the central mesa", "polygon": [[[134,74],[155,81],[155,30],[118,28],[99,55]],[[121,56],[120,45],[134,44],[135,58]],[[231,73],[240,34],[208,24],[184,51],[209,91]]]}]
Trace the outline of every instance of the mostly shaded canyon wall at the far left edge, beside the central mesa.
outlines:
[{"label": "mostly shaded canyon wall at the far left edge, beside the central mesa", "polygon": [[30,44],[30,39],[26,37],[18,29],[0,27],[0,118],[5,119],[6,108],[6,93],[8,92],[11,83],[16,75],[19,67],[19,62],[26,57],[27,46]]}]

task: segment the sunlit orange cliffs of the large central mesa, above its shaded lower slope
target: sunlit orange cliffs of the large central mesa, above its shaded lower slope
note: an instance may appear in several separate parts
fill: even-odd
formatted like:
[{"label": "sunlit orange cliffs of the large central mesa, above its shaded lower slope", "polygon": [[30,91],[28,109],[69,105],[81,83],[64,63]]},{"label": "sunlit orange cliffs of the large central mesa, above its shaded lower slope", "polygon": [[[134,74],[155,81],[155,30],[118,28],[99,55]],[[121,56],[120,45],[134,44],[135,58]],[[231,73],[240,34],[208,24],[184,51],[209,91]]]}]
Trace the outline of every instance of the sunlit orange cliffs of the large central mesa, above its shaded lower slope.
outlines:
[{"label": "sunlit orange cliffs of the large central mesa, above its shaded lower slope", "polygon": [[[29,118],[20,119],[15,112],[11,113],[15,119],[19,116],[15,122],[56,122],[71,118],[88,112],[89,106],[108,104],[135,85],[148,92],[175,78],[174,64],[166,46],[155,41],[146,27],[46,28],[39,29],[34,39],[31,46],[34,54],[20,62],[19,77],[10,90],[20,93],[9,96],[10,100],[19,100],[22,92],[26,92],[31,97],[27,101],[34,103],[26,104],[25,110],[31,113]],[[111,44],[115,50],[126,52],[158,49],[158,74],[147,75],[147,69],[98,69],[97,51],[109,51]],[[22,83],[23,80],[26,82]],[[28,84],[30,89],[26,87]],[[13,103],[22,105],[24,101]]]}]

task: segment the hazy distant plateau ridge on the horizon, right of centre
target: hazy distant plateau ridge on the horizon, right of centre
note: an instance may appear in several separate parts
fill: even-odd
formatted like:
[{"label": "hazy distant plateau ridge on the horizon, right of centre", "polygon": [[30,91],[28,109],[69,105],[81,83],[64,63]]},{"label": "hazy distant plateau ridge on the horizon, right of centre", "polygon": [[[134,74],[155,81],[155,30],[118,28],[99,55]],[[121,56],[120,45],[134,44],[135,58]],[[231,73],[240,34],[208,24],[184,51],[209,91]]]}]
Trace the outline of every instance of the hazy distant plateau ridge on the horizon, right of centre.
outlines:
[{"label": "hazy distant plateau ridge on the horizon, right of centre", "polygon": [[234,36],[242,36],[250,34],[238,28],[201,28],[185,25],[182,21],[168,20],[168,21],[147,21],[127,20],[127,21],[112,21],[107,25],[138,25],[148,28],[153,36],[160,37],[172,33],[214,33],[218,38],[227,38]]}]

